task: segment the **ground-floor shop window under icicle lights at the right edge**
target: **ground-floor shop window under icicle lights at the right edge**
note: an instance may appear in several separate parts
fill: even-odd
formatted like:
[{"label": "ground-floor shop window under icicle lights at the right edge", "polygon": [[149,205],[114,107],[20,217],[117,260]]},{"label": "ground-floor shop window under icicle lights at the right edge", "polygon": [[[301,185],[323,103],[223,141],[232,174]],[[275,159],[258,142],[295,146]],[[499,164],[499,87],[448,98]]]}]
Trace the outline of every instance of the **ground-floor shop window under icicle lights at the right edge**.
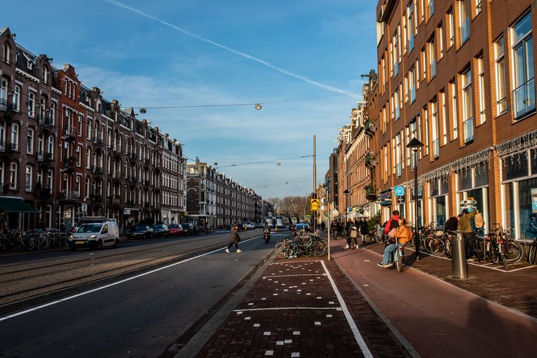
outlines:
[{"label": "ground-floor shop window under icicle lights at the right edge", "polygon": [[516,239],[533,239],[537,233],[531,231],[529,223],[537,215],[537,152],[526,151],[503,159],[502,207],[503,226],[514,228]]}]

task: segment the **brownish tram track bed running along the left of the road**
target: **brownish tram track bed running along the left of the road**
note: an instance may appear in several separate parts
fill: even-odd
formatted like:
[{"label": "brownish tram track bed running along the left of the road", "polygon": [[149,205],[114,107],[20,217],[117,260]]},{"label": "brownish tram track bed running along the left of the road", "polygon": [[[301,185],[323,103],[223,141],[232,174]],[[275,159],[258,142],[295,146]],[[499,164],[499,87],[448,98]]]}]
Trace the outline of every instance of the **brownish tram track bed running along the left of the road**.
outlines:
[{"label": "brownish tram track bed running along the left of the road", "polygon": [[[0,314],[56,300],[66,295],[87,290],[98,284],[111,283],[143,271],[149,271],[166,264],[194,257],[203,252],[217,250],[222,248],[224,243],[222,238],[222,236],[203,236],[203,241],[175,241],[166,245],[141,248],[140,250],[114,252],[111,255],[91,255],[91,257],[86,257],[83,260],[60,264],[42,264],[37,267],[27,267],[6,273],[2,270],[3,272],[0,274]],[[169,252],[172,248],[178,248],[180,251]],[[133,255],[144,255],[144,257],[133,257]],[[147,258],[147,255],[153,257]],[[125,260],[117,260],[121,258]],[[133,260],[137,260],[137,262],[132,262]],[[88,262],[92,264],[88,266]],[[106,268],[106,265],[113,264],[115,266]],[[13,266],[13,264],[8,266]],[[45,273],[45,275],[51,276],[50,281],[36,281],[37,275],[43,274],[44,270],[51,268],[55,268],[53,274]],[[88,272],[87,269],[89,268],[93,269],[93,271]],[[79,272],[83,272],[83,274],[79,274]],[[6,277],[13,277],[13,274],[16,273],[25,274],[25,277],[6,279]],[[77,276],[70,276],[73,273],[77,274]]]}]

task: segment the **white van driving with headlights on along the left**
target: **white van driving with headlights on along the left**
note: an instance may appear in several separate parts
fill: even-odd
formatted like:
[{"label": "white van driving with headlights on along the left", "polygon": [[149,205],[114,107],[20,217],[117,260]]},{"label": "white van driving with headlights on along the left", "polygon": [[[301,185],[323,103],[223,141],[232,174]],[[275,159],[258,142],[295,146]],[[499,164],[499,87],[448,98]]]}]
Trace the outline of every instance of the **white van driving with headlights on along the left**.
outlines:
[{"label": "white van driving with headlights on along the left", "polygon": [[115,222],[92,222],[82,224],[69,237],[69,247],[71,250],[77,248],[96,248],[99,250],[104,246],[117,248],[120,245],[120,230]]}]

